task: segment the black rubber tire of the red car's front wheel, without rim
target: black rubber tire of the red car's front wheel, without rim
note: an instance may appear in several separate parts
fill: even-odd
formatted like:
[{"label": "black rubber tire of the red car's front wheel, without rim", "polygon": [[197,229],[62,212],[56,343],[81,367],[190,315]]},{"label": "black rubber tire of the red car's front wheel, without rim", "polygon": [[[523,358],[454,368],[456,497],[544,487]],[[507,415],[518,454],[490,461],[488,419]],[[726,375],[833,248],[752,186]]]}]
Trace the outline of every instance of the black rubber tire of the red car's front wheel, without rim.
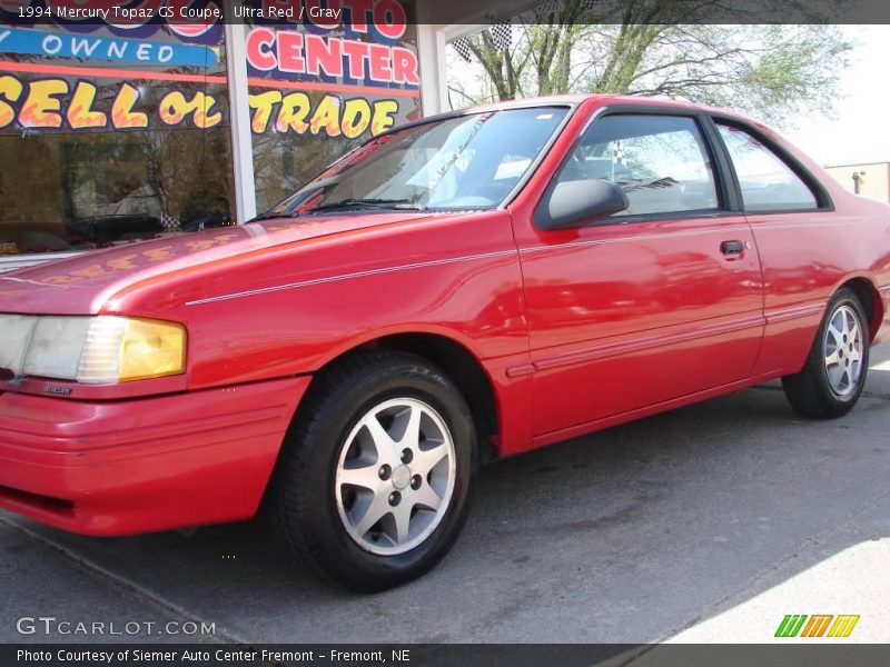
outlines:
[{"label": "black rubber tire of the red car's front wheel, without rim", "polygon": [[[376,406],[403,397],[432,407],[447,426],[455,452],[454,484],[447,509],[419,545],[405,552],[379,555],[363,548],[347,530],[347,519],[338,509],[337,497],[343,491],[336,475],[347,438],[360,428],[359,420]],[[267,510],[285,548],[316,574],[356,590],[385,590],[424,575],[454,545],[466,519],[475,461],[471,411],[442,370],[414,355],[359,352],[313,381],[285,438]],[[392,477],[395,480],[395,474]]]}]

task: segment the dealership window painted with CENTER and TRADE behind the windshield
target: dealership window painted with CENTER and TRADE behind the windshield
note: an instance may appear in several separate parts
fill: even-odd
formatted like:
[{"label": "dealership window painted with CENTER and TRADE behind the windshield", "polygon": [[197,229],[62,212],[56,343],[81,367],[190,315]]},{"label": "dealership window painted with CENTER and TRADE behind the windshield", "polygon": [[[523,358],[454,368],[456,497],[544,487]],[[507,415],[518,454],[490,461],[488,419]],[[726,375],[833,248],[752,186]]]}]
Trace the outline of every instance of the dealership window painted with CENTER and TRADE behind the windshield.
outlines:
[{"label": "dealership window painted with CENTER and TRADE behind the windshield", "polygon": [[247,21],[258,211],[352,148],[421,118],[414,3],[388,7],[329,26]]}]

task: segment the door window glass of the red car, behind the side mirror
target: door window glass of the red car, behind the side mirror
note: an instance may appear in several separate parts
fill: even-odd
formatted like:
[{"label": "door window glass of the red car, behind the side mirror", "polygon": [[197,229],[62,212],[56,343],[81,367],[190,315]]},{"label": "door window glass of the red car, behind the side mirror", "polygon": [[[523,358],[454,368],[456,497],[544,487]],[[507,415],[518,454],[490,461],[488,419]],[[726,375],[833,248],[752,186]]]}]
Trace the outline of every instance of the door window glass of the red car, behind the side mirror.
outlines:
[{"label": "door window glass of the red car, behind the side mirror", "polygon": [[698,123],[680,116],[613,115],[594,121],[563,165],[560,181],[617,185],[630,208],[620,216],[719,208],[708,147]]}]

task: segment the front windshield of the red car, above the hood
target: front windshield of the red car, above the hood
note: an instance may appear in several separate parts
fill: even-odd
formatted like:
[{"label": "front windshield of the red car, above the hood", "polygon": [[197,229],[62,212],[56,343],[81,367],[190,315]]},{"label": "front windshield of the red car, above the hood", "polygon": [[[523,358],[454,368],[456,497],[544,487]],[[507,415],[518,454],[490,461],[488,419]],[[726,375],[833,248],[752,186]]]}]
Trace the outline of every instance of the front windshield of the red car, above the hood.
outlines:
[{"label": "front windshield of the red car, above the hood", "polygon": [[382,135],[263,217],[330,210],[478,210],[501,205],[568,109],[459,116]]}]

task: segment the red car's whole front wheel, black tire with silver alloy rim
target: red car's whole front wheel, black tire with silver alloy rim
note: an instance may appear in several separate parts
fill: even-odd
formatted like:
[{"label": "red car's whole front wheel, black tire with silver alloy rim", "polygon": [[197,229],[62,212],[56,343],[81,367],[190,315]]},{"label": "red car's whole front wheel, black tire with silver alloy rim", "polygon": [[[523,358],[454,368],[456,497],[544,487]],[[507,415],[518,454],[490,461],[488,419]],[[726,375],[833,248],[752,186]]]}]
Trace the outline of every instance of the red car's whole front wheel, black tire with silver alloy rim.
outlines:
[{"label": "red car's whole front wheel, black tire with silver alloy rim", "polygon": [[288,432],[270,487],[273,526],[313,570],[349,588],[398,586],[456,540],[475,430],[448,377],[373,351],[323,371]]}]

